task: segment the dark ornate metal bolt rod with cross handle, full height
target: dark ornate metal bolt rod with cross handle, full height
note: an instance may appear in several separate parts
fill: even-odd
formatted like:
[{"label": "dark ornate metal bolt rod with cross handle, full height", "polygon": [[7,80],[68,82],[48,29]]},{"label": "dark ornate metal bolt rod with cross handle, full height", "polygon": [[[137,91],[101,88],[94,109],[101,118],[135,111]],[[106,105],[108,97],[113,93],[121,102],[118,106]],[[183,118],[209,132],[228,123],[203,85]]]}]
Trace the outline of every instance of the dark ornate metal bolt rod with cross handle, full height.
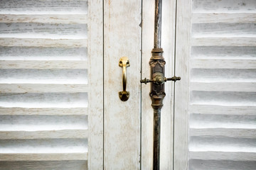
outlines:
[{"label": "dark ornate metal bolt rod with cross handle, full height", "polygon": [[153,144],[153,169],[160,169],[160,139],[161,139],[161,108],[163,100],[166,96],[164,92],[165,81],[180,80],[181,77],[164,77],[164,65],[166,62],[163,57],[163,49],[161,48],[161,9],[162,0],[155,0],[155,23],[154,23],[154,48],[149,60],[151,79],[142,79],[141,83],[151,82],[150,93],[151,106],[154,108],[154,144]]}]

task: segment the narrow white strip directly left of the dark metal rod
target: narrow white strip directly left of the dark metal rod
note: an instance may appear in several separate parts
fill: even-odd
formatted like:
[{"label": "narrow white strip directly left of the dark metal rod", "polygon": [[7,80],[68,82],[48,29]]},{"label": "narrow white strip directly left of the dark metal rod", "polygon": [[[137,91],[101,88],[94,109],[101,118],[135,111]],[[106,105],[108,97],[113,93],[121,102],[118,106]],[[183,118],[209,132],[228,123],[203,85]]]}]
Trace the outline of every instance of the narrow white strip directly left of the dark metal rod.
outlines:
[{"label": "narrow white strip directly left of the dark metal rod", "polygon": [[[164,11],[162,11],[164,12]],[[149,60],[154,47],[154,1],[142,4],[142,79],[150,77]],[[165,52],[165,49],[164,49]],[[164,53],[165,54],[165,53]],[[149,96],[150,85],[142,84],[142,169],[153,168],[154,114]],[[161,148],[160,148],[161,149]],[[161,153],[161,150],[160,150]],[[161,159],[161,155],[160,155]],[[160,163],[161,164],[161,163]],[[161,166],[161,165],[160,165]]]}]

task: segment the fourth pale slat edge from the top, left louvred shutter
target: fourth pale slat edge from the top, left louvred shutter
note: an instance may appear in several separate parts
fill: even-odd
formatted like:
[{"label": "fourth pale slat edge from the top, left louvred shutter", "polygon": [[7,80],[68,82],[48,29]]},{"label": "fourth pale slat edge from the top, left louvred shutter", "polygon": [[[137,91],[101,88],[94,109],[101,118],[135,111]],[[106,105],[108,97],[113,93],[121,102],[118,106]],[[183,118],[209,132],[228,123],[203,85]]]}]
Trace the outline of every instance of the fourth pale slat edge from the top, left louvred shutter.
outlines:
[{"label": "fourth pale slat edge from the top, left louvred shutter", "polygon": [[0,84],[0,93],[88,92],[87,84]]}]

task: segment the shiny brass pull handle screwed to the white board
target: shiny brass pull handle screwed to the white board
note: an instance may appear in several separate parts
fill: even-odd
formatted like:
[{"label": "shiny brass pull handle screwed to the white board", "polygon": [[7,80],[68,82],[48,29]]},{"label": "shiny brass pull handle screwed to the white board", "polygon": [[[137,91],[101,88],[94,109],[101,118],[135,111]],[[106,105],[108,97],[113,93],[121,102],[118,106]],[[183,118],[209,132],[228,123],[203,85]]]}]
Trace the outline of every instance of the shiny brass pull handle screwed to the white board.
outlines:
[{"label": "shiny brass pull handle screwed to the white board", "polygon": [[126,91],[127,67],[129,67],[129,60],[127,57],[120,58],[119,67],[122,67],[122,85],[123,85],[123,91],[119,91],[119,98],[121,99],[121,101],[127,101],[129,98],[129,91]]}]

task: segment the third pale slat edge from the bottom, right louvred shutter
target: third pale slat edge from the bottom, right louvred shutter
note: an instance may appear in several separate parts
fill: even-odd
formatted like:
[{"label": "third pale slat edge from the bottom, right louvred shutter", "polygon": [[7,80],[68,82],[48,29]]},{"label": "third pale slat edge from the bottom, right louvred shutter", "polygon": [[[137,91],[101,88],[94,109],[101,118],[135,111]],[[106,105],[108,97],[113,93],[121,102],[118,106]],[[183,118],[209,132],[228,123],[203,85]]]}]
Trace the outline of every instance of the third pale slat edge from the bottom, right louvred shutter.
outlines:
[{"label": "third pale slat edge from the bottom, right louvred shutter", "polygon": [[191,104],[190,113],[213,115],[256,115],[256,106],[220,106]]}]

